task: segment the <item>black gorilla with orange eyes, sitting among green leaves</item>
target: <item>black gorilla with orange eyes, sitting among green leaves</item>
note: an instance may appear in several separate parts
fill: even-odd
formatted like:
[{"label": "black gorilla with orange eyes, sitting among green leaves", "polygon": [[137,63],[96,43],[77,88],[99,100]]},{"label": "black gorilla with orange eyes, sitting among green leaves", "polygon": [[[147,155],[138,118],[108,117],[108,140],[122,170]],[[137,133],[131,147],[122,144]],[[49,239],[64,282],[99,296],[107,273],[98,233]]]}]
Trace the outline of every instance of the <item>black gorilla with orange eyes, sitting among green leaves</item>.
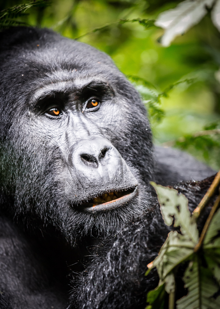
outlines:
[{"label": "black gorilla with orange eyes, sitting among green leaves", "polygon": [[[116,298],[119,285],[106,275],[113,265],[97,268],[91,256],[127,256],[120,269],[130,265],[129,280],[142,280],[129,260],[138,254],[143,274],[168,233],[149,181],[213,171],[180,151],[155,150],[139,94],[84,43],[47,29],[1,32],[0,85],[0,308],[144,308],[146,288],[128,291],[121,271],[124,298]],[[143,240],[133,259],[123,233]]]}]

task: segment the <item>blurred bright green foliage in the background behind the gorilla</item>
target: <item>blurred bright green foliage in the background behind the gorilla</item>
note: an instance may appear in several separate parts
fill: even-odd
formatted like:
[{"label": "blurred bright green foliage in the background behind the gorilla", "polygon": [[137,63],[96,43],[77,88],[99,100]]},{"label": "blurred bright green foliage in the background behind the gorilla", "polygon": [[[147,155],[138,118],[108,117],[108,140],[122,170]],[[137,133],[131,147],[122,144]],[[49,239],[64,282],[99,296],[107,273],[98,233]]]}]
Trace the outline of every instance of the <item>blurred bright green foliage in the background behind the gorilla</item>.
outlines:
[{"label": "blurred bright green foliage in the background behind the gorilla", "polygon": [[[38,1],[12,19],[54,29],[108,53],[149,108],[155,143],[172,141],[220,168],[220,136],[207,129],[220,128],[220,33],[210,14],[164,48],[159,43],[163,30],[153,20],[180,1]],[[26,2],[1,0],[0,11]],[[209,135],[195,136],[203,130]]]}]

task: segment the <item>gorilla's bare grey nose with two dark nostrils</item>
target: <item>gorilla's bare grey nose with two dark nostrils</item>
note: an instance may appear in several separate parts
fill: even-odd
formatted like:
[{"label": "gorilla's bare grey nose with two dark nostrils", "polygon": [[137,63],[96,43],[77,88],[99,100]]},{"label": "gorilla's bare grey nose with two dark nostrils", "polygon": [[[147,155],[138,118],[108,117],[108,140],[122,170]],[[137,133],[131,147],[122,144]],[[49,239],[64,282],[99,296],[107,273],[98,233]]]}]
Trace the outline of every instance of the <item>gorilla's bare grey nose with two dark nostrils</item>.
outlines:
[{"label": "gorilla's bare grey nose with two dark nostrils", "polygon": [[102,137],[77,141],[70,148],[68,163],[70,173],[84,188],[100,187],[104,183],[115,187],[131,178],[118,150]]}]

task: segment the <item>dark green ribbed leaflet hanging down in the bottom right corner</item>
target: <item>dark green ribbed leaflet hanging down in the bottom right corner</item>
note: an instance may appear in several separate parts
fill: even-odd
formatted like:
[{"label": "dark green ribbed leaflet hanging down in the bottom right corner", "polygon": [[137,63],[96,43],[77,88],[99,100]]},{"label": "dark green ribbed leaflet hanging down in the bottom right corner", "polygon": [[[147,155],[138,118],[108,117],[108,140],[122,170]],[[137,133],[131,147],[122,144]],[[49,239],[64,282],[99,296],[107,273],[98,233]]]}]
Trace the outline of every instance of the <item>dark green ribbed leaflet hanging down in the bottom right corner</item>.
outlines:
[{"label": "dark green ribbed leaflet hanging down in the bottom right corner", "polygon": [[197,256],[189,263],[183,279],[188,294],[177,300],[177,309],[219,309],[219,297],[212,297],[219,287],[216,286],[210,269],[201,266]]}]

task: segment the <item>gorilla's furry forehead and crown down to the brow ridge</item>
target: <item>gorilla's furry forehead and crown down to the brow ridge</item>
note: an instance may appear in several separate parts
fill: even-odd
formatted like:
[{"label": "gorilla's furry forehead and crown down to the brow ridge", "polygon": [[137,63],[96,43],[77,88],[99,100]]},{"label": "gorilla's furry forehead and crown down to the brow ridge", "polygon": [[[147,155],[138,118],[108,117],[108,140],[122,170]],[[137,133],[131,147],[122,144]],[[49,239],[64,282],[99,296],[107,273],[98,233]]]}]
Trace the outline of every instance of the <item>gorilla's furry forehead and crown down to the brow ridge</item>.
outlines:
[{"label": "gorilla's furry forehead and crown down to the brow ridge", "polygon": [[[76,84],[79,88],[92,80],[101,80],[129,102],[139,104],[146,113],[138,93],[105,53],[45,29],[11,28],[1,36],[0,83],[4,97],[7,93],[10,98],[16,94],[16,101],[25,97],[29,105],[36,88],[41,89],[45,84],[70,81],[74,90]],[[13,88],[8,87],[7,80],[12,81]],[[67,85],[63,86],[67,89]]]}]

